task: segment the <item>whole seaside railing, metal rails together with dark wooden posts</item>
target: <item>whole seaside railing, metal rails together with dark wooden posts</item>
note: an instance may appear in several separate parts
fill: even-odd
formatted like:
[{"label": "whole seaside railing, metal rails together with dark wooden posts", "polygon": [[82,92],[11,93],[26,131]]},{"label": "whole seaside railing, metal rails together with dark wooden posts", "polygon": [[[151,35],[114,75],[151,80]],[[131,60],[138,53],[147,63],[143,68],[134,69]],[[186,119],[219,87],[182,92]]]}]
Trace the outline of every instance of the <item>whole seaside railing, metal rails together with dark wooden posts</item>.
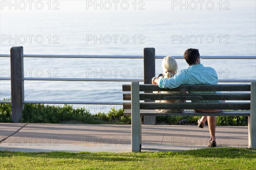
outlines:
[{"label": "whole seaside railing, metal rails together with dark wooden posts", "polygon": [[[81,105],[122,105],[122,102],[82,102],[82,101],[26,101],[24,100],[24,89],[15,94],[17,89],[23,88],[23,81],[95,81],[95,82],[131,82],[138,81],[149,84],[151,77],[155,76],[155,59],[163,59],[166,56],[155,56],[154,48],[145,48],[144,56],[117,56],[117,55],[23,55],[23,47],[11,48],[11,55],[0,54],[0,57],[11,57],[11,70],[20,71],[14,73],[11,71],[11,78],[0,77],[0,80],[11,80],[14,77],[14,83],[11,83],[12,101],[0,100],[0,103],[12,103],[18,104],[17,108],[22,109],[24,103],[42,103],[42,104],[81,104]],[[144,59],[144,79],[90,79],[90,78],[35,78],[35,77],[22,77],[23,58],[89,58],[89,59]],[[172,56],[175,59],[184,59],[183,56]],[[204,59],[256,59],[256,56],[203,56]],[[20,60],[19,60],[20,59]],[[18,61],[19,60],[19,61]],[[19,63],[21,62],[21,63]],[[154,66],[152,66],[152,62]],[[151,69],[149,69],[149,63]],[[15,68],[19,66],[19,68]],[[150,71],[147,71],[150,70]],[[17,77],[18,76],[18,77]],[[19,77],[20,76],[20,77]],[[20,83],[17,83],[20,81]],[[219,79],[219,82],[251,82],[251,79]],[[15,86],[15,87],[12,87]],[[15,94],[15,95],[14,95]],[[22,99],[22,101],[20,101]],[[15,100],[15,101],[13,101]],[[16,111],[17,115],[20,115],[20,110]],[[20,119],[20,116],[13,117],[14,122]]]}]

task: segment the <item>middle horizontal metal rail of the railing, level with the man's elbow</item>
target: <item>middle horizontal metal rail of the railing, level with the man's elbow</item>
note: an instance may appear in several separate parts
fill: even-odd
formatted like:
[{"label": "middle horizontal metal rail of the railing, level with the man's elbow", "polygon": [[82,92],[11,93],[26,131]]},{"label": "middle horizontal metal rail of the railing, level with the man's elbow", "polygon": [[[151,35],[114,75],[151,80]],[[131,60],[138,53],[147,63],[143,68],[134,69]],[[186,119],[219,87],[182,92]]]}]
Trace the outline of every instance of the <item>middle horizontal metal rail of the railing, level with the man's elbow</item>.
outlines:
[{"label": "middle horizontal metal rail of the railing, level with the man's elbow", "polygon": [[[11,80],[9,77],[0,77],[0,80]],[[24,77],[23,80],[34,81],[84,81],[84,82],[144,82],[143,79],[82,79],[82,78],[37,78]],[[218,82],[252,82],[255,79],[219,79]]]}]

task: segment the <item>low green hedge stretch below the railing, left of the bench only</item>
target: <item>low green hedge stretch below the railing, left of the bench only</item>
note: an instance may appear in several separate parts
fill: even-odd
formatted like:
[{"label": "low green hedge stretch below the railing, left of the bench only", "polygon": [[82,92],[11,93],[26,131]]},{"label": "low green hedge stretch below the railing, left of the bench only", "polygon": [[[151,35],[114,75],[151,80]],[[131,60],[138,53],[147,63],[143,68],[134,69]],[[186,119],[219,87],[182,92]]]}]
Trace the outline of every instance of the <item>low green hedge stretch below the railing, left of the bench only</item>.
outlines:
[{"label": "low green hedge stretch below the railing, left of the bench only", "polygon": [[[130,116],[123,116],[123,109],[111,109],[108,113],[92,114],[85,108],[72,105],[25,104],[22,123],[89,123],[131,124]],[[0,122],[12,122],[11,104],[0,103]]]}]

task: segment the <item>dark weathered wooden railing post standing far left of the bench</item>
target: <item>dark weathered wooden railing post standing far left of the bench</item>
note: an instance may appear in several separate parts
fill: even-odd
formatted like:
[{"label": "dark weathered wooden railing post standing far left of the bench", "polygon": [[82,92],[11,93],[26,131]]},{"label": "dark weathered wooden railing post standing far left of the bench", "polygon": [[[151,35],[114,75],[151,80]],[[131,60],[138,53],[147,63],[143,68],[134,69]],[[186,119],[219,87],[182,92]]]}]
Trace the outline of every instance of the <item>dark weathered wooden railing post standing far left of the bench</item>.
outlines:
[{"label": "dark weathered wooden railing post standing far left of the bench", "polygon": [[23,83],[23,47],[11,48],[11,100],[12,122],[22,119],[24,83]]}]

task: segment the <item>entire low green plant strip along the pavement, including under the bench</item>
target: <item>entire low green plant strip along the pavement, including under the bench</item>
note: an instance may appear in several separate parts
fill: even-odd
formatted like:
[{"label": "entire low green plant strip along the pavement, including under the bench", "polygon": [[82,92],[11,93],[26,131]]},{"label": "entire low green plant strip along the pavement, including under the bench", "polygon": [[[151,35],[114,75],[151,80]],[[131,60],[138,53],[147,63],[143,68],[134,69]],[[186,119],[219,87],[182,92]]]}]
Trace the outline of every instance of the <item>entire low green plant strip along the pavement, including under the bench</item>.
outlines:
[{"label": "entire low green plant strip along the pavement, including under the bench", "polygon": [[[5,99],[9,100],[9,99]],[[131,124],[131,116],[123,116],[124,110],[112,108],[107,113],[92,114],[85,108],[72,105],[25,104],[23,123],[88,123],[88,124]],[[157,124],[197,125],[199,116],[157,116]],[[0,122],[12,122],[11,104],[0,103]],[[247,126],[247,117],[218,116],[218,126]]]}]

